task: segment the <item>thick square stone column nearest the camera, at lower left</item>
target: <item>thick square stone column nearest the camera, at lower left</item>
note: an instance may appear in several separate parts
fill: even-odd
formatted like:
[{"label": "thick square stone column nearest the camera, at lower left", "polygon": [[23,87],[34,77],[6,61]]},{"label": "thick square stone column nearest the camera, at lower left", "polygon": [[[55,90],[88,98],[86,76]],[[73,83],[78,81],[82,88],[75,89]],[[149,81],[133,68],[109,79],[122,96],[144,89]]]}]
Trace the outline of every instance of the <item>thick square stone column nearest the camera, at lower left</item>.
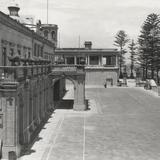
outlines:
[{"label": "thick square stone column nearest the camera, at lower left", "polygon": [[0,101],[2,114],[3,149],[2,159],[16,158],[20,154],[19,145],[19,104],[18,104],[18,83],[3,83],[0,88]]}]

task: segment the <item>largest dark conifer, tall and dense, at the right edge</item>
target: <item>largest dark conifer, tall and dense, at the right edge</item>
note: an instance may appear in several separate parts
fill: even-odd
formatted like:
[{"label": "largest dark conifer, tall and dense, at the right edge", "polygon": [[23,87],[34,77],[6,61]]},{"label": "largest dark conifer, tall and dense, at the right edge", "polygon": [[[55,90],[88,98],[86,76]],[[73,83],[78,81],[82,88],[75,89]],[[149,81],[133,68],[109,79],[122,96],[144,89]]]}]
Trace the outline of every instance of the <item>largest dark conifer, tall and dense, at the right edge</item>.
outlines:
[{"label": "largest dark conifer, tall and dense, at the right edge", "polygon": [[145,20],[139,36],[139,62],[145,78],[148,78],[148,70],[151,71],[151,78],[154,79],[154,72],[159,68],[159,31],[160,18],[157,14],[150,14]]}]

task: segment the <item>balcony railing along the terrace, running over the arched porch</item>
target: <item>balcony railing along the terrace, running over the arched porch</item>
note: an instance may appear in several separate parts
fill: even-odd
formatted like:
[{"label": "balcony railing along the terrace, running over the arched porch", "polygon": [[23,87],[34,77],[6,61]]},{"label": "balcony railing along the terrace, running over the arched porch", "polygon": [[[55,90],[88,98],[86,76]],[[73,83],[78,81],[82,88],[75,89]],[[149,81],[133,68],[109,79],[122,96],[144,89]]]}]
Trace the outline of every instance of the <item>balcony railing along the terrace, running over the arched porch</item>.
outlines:
[{"label": "balcony railing along the terrace, running over the arched porch", "polygon": [[82,65],[0,66],[0,82],[20,82],[50,73],[84,73]]}]

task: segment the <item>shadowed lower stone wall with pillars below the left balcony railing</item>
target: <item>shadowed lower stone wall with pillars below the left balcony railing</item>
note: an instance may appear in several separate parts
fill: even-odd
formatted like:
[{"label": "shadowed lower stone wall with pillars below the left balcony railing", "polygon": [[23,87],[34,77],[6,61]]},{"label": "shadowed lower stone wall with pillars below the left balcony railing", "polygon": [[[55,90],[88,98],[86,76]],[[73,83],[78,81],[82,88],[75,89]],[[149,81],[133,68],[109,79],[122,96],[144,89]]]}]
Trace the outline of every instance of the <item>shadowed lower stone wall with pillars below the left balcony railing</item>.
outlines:
[{"label": "shadowed lower stone wall with pillars below the left balcony railing", "polygon": [[[21,149],[33,141],[37,130],[54,110],[53,81],[48,76],[49,71],[49,66],[13,66],[5,70],[7,77],[0,83],[2,158],[7,159],[10,152],[19,156]],[[64,79],[60,80],[60,85],[62,98]]]}]

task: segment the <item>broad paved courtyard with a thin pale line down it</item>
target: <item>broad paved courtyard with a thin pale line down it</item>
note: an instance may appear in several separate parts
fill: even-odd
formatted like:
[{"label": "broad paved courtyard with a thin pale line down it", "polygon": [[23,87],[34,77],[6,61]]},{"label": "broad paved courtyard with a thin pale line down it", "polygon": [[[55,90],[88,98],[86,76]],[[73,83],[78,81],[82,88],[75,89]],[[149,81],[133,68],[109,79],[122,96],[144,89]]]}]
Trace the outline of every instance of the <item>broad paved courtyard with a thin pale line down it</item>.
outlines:
[{"label": "broad paved courtyard with a thin pale line down it", "polygon": [[160,160],[160,97],[138,88],[87,88],[86,98],[89,110],[75,112],[68,92],[20,159]]}]

